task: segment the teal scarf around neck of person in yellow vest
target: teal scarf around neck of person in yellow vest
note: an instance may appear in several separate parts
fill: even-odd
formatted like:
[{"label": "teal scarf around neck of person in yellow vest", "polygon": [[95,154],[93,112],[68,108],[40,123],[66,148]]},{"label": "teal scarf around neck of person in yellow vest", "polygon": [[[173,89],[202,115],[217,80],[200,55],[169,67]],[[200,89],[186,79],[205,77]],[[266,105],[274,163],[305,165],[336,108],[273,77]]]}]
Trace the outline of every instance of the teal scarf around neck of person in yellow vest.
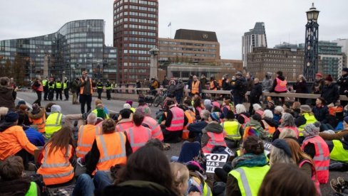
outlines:
[{"label": "teal scarf around neck of person in yellow vest", "polygon": [[267,164],[267,159],[264,153],[260,155],[255,155],[252,153],[247,153],[242,156],[238,156],[232,160],[232,168],[240,167],[260,167]]}]

